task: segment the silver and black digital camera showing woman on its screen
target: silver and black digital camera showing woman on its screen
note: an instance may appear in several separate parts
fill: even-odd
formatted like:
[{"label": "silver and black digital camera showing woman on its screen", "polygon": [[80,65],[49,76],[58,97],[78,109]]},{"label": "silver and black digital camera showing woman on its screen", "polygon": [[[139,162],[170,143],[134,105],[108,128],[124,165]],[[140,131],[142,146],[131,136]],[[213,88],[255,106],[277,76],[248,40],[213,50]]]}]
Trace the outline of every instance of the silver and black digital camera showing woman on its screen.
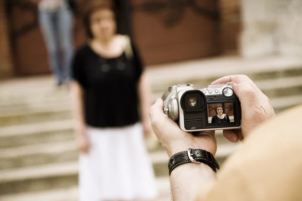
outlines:
[{"label": "silver and black digital camera showing woman on its screen", "polygon": [[232,82],[201,89],[193,84],[178,84],[169,87],[162,99],[164,112],[183,131],[241,128],[241,106]]}]

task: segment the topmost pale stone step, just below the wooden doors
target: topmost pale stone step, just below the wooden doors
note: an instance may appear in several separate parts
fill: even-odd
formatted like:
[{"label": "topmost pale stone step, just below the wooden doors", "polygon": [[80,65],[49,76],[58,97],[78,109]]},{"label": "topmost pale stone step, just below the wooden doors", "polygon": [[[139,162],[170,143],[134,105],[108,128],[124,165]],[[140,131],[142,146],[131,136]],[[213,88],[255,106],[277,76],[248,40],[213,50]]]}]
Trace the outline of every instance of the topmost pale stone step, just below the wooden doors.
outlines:
[{"label": "topmost pale stone step, just below the wooden doors", "polygon": [[[213,73],[214,71],[214,73]],[[247,74],[253,80],[273,79],[302,75],[301,58],[266,57],[242,59],[214,57],[150,66],[146,70],[154,91],[164,90],[177,83],[198,83],[204,87],[216,78],[230,74]],[[66,88],[54,88],[51,76],[19,78],[2,81],[0,106],[47,103],[68,94]],[[18,92],[16,92],[18,90]],[[31,94],[31,95],[28,95]]]}]

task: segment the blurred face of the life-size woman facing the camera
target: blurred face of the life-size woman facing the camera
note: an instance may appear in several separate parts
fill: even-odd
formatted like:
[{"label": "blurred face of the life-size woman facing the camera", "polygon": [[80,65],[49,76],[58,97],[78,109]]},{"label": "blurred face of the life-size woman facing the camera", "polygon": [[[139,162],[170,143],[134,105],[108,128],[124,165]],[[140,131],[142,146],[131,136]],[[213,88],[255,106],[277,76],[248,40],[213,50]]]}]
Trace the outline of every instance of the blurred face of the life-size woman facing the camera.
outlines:
[{"label": "blurred face of the life-size woman facing the camera", "polygon": [[90,30],[93,38],[108,40],[116,32],[116,22],[113,11],[100,9],[90,16]]}]

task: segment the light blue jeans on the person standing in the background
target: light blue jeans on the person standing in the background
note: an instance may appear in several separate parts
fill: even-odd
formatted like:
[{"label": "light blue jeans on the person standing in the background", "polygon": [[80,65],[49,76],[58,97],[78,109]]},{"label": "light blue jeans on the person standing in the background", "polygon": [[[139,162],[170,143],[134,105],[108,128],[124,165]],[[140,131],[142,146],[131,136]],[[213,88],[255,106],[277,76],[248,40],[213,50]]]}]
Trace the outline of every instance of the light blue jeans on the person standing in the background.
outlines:
[{"label": "light blue jeans on the person standing in the background", "polygon": [[56,9],[39,8],[39,24],[56,83],[70,80],[73,56],[73,14],[67,4]]}]

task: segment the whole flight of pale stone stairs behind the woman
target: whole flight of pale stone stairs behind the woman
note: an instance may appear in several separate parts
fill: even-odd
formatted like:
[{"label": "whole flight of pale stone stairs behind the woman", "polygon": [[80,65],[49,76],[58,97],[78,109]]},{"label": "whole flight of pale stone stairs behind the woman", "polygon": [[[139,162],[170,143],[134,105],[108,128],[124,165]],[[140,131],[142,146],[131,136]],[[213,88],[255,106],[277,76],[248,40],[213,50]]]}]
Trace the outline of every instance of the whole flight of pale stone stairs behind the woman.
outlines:
[{"label": "whole flight of pale stone stairs behind the woman", "polygon": [[[197,88],[224,75],[244,73],[255,80],[279,113],[302,104],[302,59],[236,57],[194,60],[147,69],[152,99],[169,85]],[[77,200],[78,151],[73,137],[70,96],[50,76],[0,82],[0,200]],[[240,143],[216,132],[220,164]],[[160,191],[170,200],[168,157],[155,136],[147,141]]]}]

